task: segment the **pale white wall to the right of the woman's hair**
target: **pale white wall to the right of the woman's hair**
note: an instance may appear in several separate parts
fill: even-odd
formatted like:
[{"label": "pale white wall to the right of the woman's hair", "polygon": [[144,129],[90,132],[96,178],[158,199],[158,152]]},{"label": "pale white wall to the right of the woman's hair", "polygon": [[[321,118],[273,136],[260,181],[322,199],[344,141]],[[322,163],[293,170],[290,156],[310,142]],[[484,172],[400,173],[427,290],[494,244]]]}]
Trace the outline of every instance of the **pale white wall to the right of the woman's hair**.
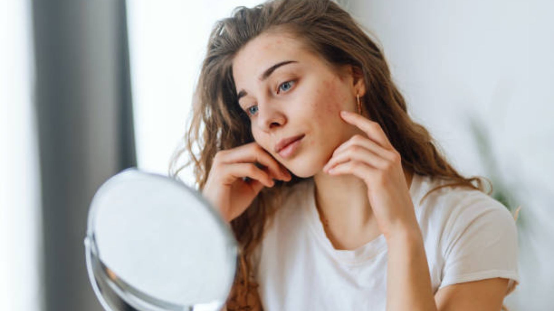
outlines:
[{"label": "pale white wall to the right of the woman's hair", "polygon": [[493,164],[526,221],[519,229],[521,284],[505,303],[552,309],[552,2],[353,0],[347,6],[381,41],[412,117],[464,175],[489,172],[467,116],[483,122]]}]

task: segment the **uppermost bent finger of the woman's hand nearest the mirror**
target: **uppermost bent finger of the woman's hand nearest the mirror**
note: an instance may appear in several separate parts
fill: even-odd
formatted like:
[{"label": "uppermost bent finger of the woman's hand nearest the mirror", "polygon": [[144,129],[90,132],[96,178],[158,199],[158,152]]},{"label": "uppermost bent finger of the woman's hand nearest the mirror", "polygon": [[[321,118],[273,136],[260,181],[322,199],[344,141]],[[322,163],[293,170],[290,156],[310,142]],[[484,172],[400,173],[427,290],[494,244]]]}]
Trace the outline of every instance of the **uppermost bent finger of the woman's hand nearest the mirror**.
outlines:
[{"label": "uppermost bent finger of the woman's hand nearest the mirror", "polygon": [[235,149],[224,150],[222,152],[221,161],[223,163],[258,162],[267,167],[275,178],[284,180],[290,178],[288,171],[282,168],[281,164],[257,143],[250,143],[236,147]]}]

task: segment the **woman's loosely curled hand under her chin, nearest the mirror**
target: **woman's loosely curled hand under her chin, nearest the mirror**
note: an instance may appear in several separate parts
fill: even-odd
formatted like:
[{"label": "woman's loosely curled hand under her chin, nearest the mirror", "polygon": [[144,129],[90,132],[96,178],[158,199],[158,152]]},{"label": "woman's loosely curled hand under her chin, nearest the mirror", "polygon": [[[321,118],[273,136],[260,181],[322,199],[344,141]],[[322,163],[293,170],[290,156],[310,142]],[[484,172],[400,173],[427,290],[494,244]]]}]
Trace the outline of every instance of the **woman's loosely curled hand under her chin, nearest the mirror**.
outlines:
[{"label": "woman's loosely curled hand under her chin, nearest the mirror", "polygon": [[[256,162],[264,168],[256,166]],[[202,195],[229,223],[248,208],[264,186],[273,187],[273,179],[291,178],[289,171],[254,141],[217,152]]]}]

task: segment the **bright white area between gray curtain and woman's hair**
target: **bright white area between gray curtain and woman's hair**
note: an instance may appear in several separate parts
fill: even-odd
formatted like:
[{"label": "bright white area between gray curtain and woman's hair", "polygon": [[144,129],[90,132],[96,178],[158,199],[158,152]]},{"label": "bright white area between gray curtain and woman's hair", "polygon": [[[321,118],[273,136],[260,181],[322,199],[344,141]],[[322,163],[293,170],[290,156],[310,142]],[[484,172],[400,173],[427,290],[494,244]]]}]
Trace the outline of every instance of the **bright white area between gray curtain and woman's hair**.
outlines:
[{"label": "bright white area between gray curtain and woman's hair", "polygon": [[[127,3],[137,166],[166,175],[185,131],[191,98],[218,19],[253,0]],[[192,167],[179,176],[193,181]]]}]

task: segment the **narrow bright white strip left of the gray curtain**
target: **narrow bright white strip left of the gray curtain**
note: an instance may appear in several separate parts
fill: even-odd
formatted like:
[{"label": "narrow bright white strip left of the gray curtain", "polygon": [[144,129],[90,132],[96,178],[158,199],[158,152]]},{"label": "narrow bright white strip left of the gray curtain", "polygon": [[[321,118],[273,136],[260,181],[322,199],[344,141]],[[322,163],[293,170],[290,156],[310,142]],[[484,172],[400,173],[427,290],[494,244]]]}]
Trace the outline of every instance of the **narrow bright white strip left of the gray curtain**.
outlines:
[{"label": "narrow bright white strip left of the gray curtain", "polygon": [[41,310],[30,1],[0,2],[0,310]]}]

